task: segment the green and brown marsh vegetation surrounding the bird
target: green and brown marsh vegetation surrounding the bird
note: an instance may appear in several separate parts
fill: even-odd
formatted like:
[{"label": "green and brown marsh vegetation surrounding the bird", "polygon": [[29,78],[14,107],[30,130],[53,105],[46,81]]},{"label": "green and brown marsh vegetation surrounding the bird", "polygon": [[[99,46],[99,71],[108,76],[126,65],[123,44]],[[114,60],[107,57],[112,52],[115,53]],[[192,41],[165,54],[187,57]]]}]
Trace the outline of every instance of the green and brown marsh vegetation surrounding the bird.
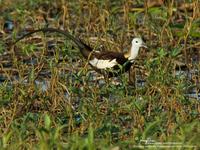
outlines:
[{"label": "green and brown marsh vegetation surrounding the bird", "polygon": [[[14,49],[9,34],[2,33],[0,74],[6,80],[0,84],[0,149],[147,149],[151,141],[183,146],[164,149],[200,147],[199,101],[186,96],[191,88],[200,89],[199,2],[140,4],[0,1],[1,29],[5,20],[15,22],[11,41],[28,25],[45,27],[46,16],[49,26],[63,27],[97,50],[121,51],[134,36],[142,36],[149,47],[138,57],[143,69],[131,71],[132,84],[123,74],[115,85],[113,78],[93,81],[87,61],[61,35],[37,33],[40,49],[38,39],[30,38]],[[57,43],[53,53],[46,48],[52,39]],[[181,61],[189,71],[197,70],[191,79],[175,74]],[[135,86],[141,74],[146,83]]]}]

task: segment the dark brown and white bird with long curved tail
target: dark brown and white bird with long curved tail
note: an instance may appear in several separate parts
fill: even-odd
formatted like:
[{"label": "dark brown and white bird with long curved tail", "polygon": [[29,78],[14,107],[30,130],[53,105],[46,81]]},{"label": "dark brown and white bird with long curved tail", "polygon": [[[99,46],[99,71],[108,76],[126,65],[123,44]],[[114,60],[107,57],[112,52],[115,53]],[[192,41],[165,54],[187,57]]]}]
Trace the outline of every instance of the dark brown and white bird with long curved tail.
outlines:
[{"label": "dark brown and white bird with long curved tail", "polygon": [[66,36],[78,46],[81,54],[86,60],[88,60],[88,63],[91,65],[91,67],[95,71],[106,75],[107,77],[118,76],[121,73],[129,71],[134,63],[134,60],[138,56],[140,48],[147,48],[143,40],[140,37],[136,37],[132,39],[131,48],[127,52],[94,51],[92,47],[90,47],[88,44],[85,44],[80,38],[74,37],[68,31],[57,28],[41,28],[28,32],[27,34],[24,34],[18,38],[14,44],[26,36],[30,36],[36,32],[57,32]]}]

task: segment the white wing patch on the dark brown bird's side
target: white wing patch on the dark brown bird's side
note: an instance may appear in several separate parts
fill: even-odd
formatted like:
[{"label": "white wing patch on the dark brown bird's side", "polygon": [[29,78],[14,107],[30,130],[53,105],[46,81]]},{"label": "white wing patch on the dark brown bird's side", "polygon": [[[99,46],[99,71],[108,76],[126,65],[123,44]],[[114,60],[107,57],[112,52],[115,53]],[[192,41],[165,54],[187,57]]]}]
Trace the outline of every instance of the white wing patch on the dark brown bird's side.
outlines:
[{"label": "white wing patch on the dark brown bird's side", "polygon": [[102,60],[102,59],[97,59],[97,58],[94,58],[94,59],[90,60],[89,63],[92,66],[94,66],[94,67],[96,67],[98,69],[112,68],[113,66],[118,64],[116,59],[113,59],[113,60],[109,60],[109,59]]}]

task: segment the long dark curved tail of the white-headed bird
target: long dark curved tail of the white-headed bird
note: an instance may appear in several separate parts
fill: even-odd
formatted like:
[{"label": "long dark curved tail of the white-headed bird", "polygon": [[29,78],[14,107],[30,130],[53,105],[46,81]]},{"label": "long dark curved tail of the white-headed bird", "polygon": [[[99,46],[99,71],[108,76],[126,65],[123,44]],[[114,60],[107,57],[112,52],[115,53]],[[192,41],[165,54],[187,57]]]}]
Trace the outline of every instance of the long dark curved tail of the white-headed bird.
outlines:
[{"label": "long dark curved tail of the white-headed bird", "polygon": [[60,29],[55,29],[55,28],[42,28],[42,29],[38,29],[38,30],[34,30],[31,31],[27,34],[24,34],[22,37],[18,38],[13,44],[16,44],[17,42],[19,42],[20,40],[24,39],[27,36],[30,36],[36,32],[57,32],[60,34],[63,34],[64,36],[66,36],[68,39],[72,40],[74,43],[76,43],[76,45],[78,46],[78,48],[80,49],[82,55],[87,59],[92,51],[92,48],[90,46],[88,46],[87,44],[83,43],[79,38],[75,38],[74,36],[72,36],[68,31],[63,31]]}]

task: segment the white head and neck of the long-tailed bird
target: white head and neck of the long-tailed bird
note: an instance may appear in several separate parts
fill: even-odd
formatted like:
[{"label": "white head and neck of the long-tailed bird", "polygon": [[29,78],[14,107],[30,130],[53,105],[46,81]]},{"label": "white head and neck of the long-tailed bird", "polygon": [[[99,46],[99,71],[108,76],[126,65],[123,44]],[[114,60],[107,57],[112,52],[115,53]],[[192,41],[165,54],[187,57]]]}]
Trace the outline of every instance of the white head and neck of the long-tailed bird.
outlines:
[{"label": "white head and neck of the long-tailed bird", "polygon": [[145,43],[142,41],[141,38],[134,38],[131,43],[132,43],[131,55],[130,55],[130,57],[128,59],[134,61],[134,59],[138,55],[140,47],[147,48],[147,46],[145,45]]}]

